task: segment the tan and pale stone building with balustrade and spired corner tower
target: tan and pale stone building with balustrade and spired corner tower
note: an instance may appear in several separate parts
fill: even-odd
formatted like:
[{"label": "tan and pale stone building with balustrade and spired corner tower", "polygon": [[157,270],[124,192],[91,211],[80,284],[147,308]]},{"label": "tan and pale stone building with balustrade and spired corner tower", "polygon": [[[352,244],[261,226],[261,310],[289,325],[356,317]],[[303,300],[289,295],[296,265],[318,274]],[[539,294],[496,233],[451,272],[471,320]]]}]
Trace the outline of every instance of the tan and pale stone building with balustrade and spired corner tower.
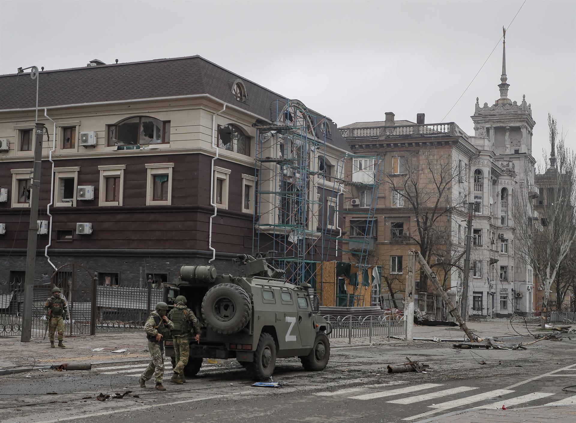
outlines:
[{"label": "tan and pale stone building with balustrade and spired corner tower", "polygon": [[[533,270],[514,249],[510,208],[521,185],[528,185],[530,197],[539,195],[532,157],[535,121],[524,96],[520,104],[507,97],[505,47],[498,87],[500,97],[493,105],[476,100],[474,136],[454,123],[425,124],[423,114],[416,123],[395,121],[393,113],[386,113],[385,121],[340,128],[353,153],[381,159],[382,183],[377,197],[371,196],[376,202],[371,222],[366,225],[369,214],[362,213],[372,206],[361,188],[346,193],[344,208],[350,237],[367,236],[375,245],[389,306],[401,306],[408,250],[422,246],[445,289],[461,298],[467,204],[473,202],[469,314],[501,317],[534,310]],[[417,281],[416,290],[424,291],[419,293],[421,310],[445,317],[431,287]]]}]

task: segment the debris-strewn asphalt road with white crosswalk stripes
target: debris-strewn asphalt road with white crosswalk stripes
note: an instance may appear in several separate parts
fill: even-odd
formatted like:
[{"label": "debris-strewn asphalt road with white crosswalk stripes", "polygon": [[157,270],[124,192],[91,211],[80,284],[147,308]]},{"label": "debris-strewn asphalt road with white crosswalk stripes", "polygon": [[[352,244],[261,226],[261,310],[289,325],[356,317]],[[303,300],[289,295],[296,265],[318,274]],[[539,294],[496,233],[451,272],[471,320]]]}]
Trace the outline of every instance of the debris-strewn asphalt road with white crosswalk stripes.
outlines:
[{"label": "debris-strewn asphalt road with white crosswalk stripes", "polygon": [[[2,376],[0,421],[418,422],[442,421],[446,413],[479,406],[576,403],[576,392],[562,390],[576,383],[576,338],[541,341],[526,351],[451,346],[420,342],[333,349],[323,372],[306,372],[297,359],[278,360],[274,380],[282,388],[252,387],[235,361],[204,364],[184,385],[169,382],[167,364],[165,392],[154,390],[153,381],[147,389],[138,386],[143,362]],[[406,356],[429,364],[429,370],[386,372],[386,365],[403,363]],[[139,398],[96,400],[100,392],[126,390]]]}]

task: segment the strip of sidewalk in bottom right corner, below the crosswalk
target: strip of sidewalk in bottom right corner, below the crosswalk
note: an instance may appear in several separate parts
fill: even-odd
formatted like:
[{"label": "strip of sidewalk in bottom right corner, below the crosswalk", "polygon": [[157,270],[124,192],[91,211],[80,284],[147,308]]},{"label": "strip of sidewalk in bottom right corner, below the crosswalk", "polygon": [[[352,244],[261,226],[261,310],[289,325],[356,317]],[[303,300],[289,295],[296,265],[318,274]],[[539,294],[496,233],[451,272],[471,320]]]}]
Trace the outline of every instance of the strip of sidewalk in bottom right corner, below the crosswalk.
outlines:
[{"label": "strip of sidewalk in bottom right corner, below the crosswalk", "polygon": [[576,422],[576,405],[525,407],[511,410],[456,411],[418,423],[548,423]]}]

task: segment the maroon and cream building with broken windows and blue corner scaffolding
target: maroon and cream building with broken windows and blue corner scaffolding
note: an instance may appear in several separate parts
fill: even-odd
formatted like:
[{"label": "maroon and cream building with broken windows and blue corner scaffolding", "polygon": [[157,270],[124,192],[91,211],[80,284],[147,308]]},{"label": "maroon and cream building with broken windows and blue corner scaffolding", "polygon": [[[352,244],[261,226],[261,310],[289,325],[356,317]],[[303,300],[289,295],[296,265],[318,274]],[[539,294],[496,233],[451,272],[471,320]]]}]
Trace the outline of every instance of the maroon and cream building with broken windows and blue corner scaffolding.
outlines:
[{"label": "maroon and cream building with broken windows and blue corner scaffolding", "polygon": [[[350,150],[329,118],[199,56],[39,76],[37,283],[73,262],[112,286],[171,280],[184,264],[236,273],[236,254],[270,250],[303,281],[305,260],[336,258],[329,172]],[[0,280],[17,284],[36,84],[2,75],[0,92]]]}]

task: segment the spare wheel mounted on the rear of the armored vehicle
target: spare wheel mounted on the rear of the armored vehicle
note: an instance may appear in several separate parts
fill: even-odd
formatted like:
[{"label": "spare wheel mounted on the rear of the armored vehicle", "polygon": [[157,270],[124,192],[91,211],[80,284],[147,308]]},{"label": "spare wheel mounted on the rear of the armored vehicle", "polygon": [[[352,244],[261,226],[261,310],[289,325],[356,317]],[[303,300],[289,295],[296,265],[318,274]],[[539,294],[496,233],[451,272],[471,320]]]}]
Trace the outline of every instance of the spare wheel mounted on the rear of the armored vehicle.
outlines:
[{"label": "spare wheel mounted on the rear of the armored vehicle", "polygon": [[240,331],[250,321],[251,311],[248,293],[234,284],[215,285],[202,300],[204,321],[222,335]]}]

